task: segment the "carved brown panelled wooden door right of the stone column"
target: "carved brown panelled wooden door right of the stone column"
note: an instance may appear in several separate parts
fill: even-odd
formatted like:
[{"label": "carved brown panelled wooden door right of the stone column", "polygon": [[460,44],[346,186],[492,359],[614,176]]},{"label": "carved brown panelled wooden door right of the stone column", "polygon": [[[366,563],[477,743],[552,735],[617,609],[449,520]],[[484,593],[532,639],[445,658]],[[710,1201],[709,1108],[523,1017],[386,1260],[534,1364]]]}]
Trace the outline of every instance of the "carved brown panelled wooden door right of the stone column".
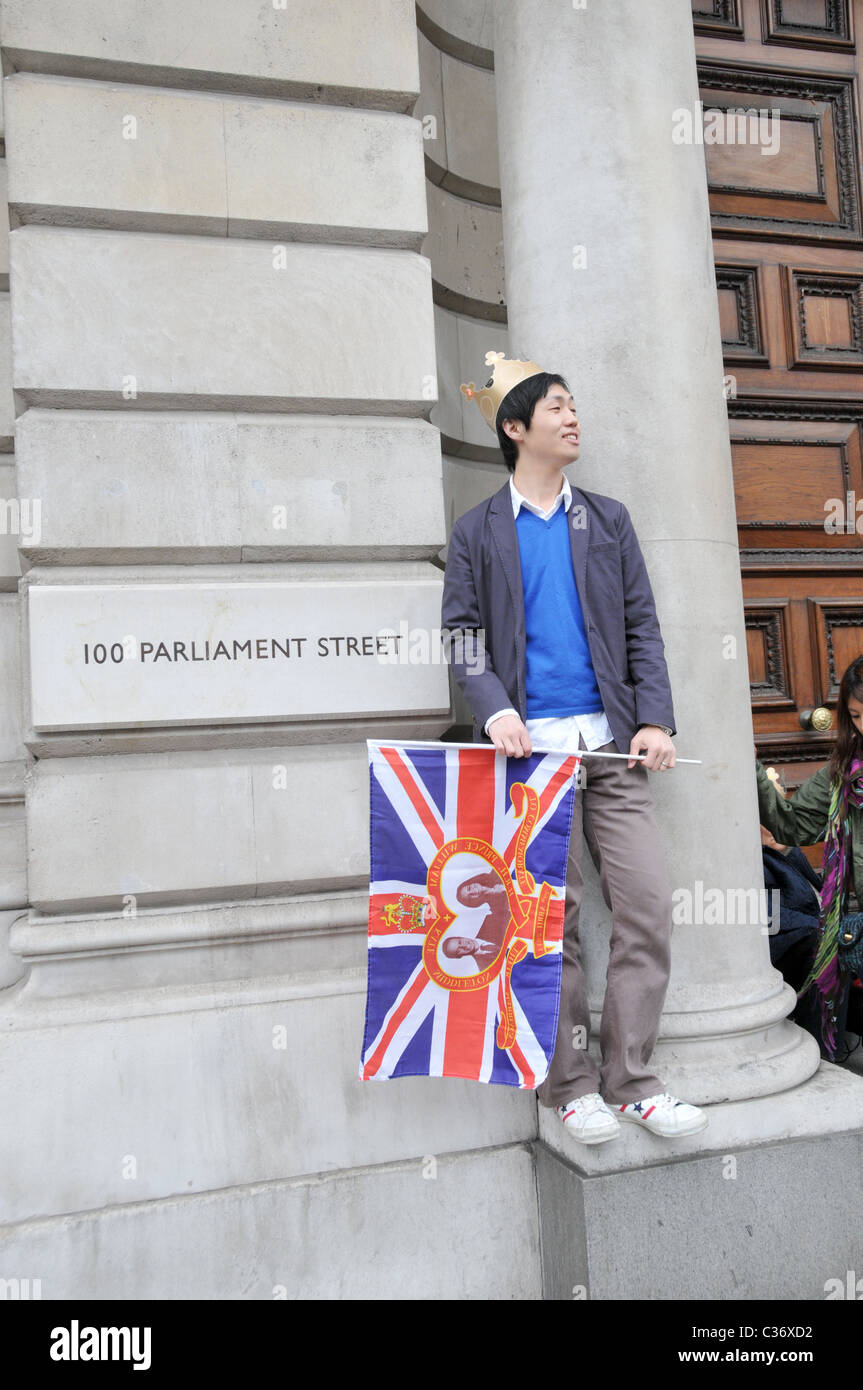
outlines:
[{"label": "carved brown panelled wooden door right of the stone column", "polygon": [[863,0],[692,11],[753,721],[791,790],[863,655]]}]

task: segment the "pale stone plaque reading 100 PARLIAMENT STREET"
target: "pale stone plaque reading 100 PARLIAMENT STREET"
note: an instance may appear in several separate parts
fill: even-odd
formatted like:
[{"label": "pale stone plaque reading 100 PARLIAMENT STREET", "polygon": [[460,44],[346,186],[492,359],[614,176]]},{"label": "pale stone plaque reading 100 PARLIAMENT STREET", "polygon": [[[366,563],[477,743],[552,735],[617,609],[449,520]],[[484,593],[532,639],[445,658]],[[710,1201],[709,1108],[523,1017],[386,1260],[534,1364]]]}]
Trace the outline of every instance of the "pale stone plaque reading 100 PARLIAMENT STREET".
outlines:
[{"label": "pale stone plaque reading 100 PARLIAMENT STREET", "polygon": [[441,581],[33,584],[35,730],[446,713]]}]

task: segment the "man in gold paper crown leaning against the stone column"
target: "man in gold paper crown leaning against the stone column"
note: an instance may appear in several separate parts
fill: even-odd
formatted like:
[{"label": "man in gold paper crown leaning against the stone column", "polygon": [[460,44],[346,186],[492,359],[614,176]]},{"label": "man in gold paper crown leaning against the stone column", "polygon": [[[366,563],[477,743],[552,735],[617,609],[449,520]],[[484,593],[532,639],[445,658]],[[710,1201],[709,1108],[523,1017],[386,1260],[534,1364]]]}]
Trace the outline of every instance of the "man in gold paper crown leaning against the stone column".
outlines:
[{"label": "man in gold paper crown leaning against the stone column", "polygon": [[[586,759],[567,866],[557,1041],[538,1091],[567,1130],[600,1144],[631,1120],[693,1134],[706,1115],[675,1099],[649,1061],[668,984],[671,892],[648,774],[674,767],[674,710],[653,594],[621,502],[573,488],[580,425],[563,377],[488,353],[492,377],[461,389],[496,432],[510,481],[454,525],[442,624],[477,634],[484,662],[453,673],[474,738],[510,758],[534,746],[628,753]],[[453,655],[454,653],[454,655]],[[475,652],[472,653],[475,657]],[[636,756],[645,753],[645,762]],[[589,1008],[578,948],[588,841],[611,908],[602,1068],[588,1052]]]}]

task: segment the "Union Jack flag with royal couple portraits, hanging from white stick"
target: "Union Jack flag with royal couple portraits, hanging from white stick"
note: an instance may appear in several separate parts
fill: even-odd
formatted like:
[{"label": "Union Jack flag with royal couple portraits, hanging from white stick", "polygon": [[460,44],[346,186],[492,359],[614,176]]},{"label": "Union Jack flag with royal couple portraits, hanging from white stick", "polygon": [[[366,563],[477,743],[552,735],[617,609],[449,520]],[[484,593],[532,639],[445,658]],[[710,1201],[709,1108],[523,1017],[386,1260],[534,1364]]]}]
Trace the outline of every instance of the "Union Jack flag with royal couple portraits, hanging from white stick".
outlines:
[{"label": "Union Jack flag with royal couple portraits, hanging from white stick", "polygon": [[573,753],[368,742],[360,1079],[534,1088],[557,1034]]}]

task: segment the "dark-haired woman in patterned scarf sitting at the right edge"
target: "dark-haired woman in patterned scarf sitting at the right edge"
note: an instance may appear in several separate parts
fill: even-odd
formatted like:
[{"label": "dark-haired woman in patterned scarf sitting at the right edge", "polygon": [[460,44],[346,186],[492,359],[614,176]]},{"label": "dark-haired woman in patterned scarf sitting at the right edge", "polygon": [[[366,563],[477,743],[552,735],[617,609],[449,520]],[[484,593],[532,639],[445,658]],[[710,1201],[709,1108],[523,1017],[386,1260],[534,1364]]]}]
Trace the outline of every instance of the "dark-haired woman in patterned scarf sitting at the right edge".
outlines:
[{"label": "dark-haired woman in patterned scarf sitting at the right edge", "polygon": [[863,902],[863,656],[850,663],[839,684],[830,762],[788,798],[760,762],[756,771],[762,824],[784,845],[824,841],[816,954],[798,998],[814,991],[821,1051],[832,1062],[846,1026],[849,991],[859,992],[859,981],[839,959],[839,922],[860,912]]}]

